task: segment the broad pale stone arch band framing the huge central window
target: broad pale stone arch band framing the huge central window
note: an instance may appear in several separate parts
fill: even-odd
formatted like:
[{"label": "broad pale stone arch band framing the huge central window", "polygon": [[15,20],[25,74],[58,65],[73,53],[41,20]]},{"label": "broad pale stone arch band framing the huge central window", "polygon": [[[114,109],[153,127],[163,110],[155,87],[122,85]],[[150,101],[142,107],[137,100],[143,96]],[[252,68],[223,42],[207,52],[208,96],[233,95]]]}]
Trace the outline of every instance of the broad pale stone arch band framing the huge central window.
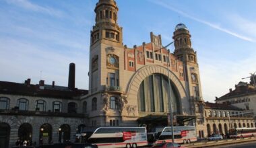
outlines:
[{"label": "broad pale stone arch band framing the huge central window", "polygon": [[[137,72],[129,81],[129,84],[127,86],[127,100],[137,102],[137,100],[134,99],[136,99],[139,95],[139,86],[141,85],[142,81],[146,79],[146,77],[153,75],[155,73],[166,76],[168,75],[168,69],[160,65],[146,65],[144,67],[141,67],[141,69],[138,69]],[[189,114],[189,100],[185,99],[189,98],[189,96],[187,96],[186,94],[185,87],[183,87],[183,84],[181,83],[179,78],[174,73],[172,73],[172,71],[170,71],[169,76],[172,85],[177,89],[177,96],[180,100],[179,106],[177,106],[177,110],[180,110],[181,114],[183,114],[184,112],[187,112]]]}]

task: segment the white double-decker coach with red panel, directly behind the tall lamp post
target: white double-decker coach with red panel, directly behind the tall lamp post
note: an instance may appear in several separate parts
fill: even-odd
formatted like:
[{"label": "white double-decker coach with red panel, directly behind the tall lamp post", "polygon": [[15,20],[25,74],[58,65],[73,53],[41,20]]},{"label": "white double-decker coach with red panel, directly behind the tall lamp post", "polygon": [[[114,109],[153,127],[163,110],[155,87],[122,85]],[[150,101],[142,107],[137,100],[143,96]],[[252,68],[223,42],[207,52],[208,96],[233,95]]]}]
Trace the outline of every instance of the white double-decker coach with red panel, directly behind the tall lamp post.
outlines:
[{"label": "white double-decker coach with red panel, directly behind the tall lamp post", "polygon": [[[174,143],[197,141],[195,126],[173,126]],[[172,127],[158,127],[154,135],[155,143],[172,142]]]}]

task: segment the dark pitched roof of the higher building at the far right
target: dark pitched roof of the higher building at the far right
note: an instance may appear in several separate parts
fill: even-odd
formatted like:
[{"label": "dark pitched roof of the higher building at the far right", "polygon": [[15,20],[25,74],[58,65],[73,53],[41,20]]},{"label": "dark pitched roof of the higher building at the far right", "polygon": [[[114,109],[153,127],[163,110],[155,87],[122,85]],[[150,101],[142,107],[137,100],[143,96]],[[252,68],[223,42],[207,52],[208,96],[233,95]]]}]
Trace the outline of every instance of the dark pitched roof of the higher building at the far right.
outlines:
[{"label": "dark pitched roof of the higher building at the far right", "polygon": [[239,97],[239,96],[245,96],[249,94],[256,94],[256,88],[252,85],[249,85],[245,82],[239,82],[236,85],[236,89],[233,91],[230,89],[230,92],[228,94],[225,94],[224,96],[221,96],[220,98],[217,98],[217,100],[226,100],[229,98]]}]

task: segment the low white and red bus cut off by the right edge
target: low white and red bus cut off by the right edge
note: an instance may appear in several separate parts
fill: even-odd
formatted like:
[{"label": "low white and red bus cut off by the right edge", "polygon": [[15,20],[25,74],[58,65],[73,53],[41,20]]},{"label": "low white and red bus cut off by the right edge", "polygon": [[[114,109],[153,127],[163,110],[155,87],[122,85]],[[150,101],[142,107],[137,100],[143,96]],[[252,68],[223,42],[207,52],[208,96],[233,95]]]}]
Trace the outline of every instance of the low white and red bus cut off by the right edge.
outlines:
[{"label": "low white and red bus cut off by the right edge", "polygon": [[256,128],[234,128],[230,129],[229,137],[230,138],[242,138],[242,137],[254,137],[256,136]]}]

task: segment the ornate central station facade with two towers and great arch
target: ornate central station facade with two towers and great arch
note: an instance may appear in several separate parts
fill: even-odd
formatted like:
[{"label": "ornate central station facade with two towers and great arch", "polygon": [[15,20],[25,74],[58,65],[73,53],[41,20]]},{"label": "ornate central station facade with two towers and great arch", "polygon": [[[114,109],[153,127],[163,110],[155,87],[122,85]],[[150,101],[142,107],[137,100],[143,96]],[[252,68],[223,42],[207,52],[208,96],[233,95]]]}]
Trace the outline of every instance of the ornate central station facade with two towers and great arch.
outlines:
[{"label": "ornate central station facade with two towers and great arch", "polygon": [[100,0],[94,9],[89,94],[82,97],[90,104],[90,126],[166,126],[170,102],[176,125],[203,120],[197,52],[187,27],[176,26],[173,53],[152,32],[150,42],[129,48],[123,45],[118,10],[113,0]]}]

